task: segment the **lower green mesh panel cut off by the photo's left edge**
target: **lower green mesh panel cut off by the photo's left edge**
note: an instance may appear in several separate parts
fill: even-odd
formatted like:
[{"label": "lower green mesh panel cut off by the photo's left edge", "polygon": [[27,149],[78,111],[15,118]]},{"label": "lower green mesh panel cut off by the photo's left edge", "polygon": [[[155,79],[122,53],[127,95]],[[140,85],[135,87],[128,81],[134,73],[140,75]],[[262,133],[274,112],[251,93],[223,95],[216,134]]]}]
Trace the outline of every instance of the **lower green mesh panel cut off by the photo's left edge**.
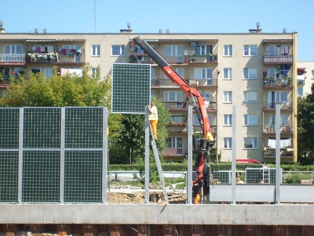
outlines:
[{"label": "lower green mesh panel cut off by the photo's left edge", "polygon": [[18,151],[0,151],[0,202],[18,199]]}]

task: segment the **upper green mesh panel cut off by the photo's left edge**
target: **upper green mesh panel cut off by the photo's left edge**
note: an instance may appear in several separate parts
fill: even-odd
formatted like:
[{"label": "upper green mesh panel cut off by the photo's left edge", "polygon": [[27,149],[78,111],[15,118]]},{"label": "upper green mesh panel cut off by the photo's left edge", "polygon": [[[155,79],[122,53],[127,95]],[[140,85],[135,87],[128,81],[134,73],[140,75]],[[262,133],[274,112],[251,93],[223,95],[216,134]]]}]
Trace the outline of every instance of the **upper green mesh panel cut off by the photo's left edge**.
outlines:
[{"label": "upper green mesh panel cut off by the photo's left edge", "polygon": [[19,109],[0,109],[0,149],[19,148]]}]

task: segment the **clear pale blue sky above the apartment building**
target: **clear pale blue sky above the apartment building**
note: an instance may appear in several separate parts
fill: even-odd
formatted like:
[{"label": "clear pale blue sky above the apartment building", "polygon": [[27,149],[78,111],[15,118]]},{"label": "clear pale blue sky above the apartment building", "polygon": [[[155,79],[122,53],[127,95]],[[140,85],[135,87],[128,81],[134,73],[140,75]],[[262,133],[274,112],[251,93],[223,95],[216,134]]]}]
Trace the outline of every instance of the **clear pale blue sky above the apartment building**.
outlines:
[{"label": "clear pale blue sky above the apartment building", "polygon": [[314,61],[314,0],[0,0],[6,33],[298,33],[298,61]]}]

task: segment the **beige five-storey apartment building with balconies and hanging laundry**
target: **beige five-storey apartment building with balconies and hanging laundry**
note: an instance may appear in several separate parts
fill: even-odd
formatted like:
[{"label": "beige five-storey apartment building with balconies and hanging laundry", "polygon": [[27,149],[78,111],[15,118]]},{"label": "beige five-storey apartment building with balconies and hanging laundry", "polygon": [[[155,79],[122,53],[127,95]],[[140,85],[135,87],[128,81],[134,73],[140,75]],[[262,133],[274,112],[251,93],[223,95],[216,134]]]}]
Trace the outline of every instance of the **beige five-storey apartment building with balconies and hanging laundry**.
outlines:
[{"label": "beige five-storey apartment building with balconies and hanging laundry", "polygon": [[[275,162],[276,105],[280,107],[280,158],[297,161],[296,98],[298,77],[297,33],[0,33],[0,93],[7,79],[20,71],[61,75],[78,73],[89,63],[91,75],[101,68],[101,77],[111,74],[112,63],[149,63],[151,93],[172,114],[167,160],[182,161],[187,154],[187,107],[194,102],[170,81],[159,66],[138,46],[135,36],[146,40],[157,53],[206,101],[214,148],[221,161],[236,158]],[[132,46],[132,50],[130,50]],[[233,123],[233,109],[236,119]],[[201,132],[196,114],[193,129]],[[236,142],[232,142],[236,126]]]}]

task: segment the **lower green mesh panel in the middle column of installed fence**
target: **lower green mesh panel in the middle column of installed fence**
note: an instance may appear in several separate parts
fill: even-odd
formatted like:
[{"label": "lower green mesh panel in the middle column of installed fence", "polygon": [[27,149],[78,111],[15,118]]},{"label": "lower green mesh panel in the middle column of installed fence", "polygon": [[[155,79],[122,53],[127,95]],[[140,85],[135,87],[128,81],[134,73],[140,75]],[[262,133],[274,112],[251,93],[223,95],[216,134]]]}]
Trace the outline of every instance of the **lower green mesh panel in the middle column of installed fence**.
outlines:
[{"label": "lower green mesh panel in the middle column of installed fence", "polygon": [[22,202],[58,203],[60,151],[24,151]]}]

